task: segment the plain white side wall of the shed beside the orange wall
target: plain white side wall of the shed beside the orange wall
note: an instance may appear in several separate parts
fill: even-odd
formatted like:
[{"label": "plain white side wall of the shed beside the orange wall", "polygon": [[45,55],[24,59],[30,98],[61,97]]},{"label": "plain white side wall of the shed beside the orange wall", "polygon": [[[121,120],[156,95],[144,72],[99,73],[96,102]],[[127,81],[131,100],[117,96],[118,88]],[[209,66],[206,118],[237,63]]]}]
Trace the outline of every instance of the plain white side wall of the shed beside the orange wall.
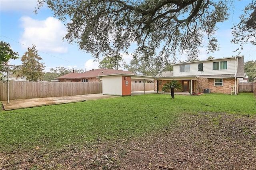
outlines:
[{"label": "plain white side wall of the shed beside the orange wall", "polygon": [[102,77],[102,94],[122,96],[122,76]]}]

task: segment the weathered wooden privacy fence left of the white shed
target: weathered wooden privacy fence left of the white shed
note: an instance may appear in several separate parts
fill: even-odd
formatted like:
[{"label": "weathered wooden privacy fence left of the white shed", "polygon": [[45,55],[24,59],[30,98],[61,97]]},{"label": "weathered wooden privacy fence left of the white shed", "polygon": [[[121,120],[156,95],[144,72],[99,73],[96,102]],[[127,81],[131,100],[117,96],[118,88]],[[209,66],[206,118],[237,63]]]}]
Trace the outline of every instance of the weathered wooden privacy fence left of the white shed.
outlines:
[{"label": "weathered wooden privacy fence left of the white shed", "polygon": [[[9,99],[30,99],[102,93],[101,82],[11,81]],[[7,100],[7,83],[0,82],[0,101]]]}]

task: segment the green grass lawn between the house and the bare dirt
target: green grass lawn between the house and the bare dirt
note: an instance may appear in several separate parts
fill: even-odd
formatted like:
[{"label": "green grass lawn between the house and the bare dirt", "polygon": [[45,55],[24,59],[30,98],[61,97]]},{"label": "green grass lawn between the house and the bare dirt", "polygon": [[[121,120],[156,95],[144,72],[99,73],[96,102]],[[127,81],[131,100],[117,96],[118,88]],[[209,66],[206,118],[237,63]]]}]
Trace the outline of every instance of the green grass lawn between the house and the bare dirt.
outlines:
[{"label": "green grass lawn between the house and the bare dirt", "polygon": [[170,127],[179,114],[200,111],[254,115],[256,99],[251,93],[175,99],[150,94],[0,111],[0,152],[126,140]]}]

